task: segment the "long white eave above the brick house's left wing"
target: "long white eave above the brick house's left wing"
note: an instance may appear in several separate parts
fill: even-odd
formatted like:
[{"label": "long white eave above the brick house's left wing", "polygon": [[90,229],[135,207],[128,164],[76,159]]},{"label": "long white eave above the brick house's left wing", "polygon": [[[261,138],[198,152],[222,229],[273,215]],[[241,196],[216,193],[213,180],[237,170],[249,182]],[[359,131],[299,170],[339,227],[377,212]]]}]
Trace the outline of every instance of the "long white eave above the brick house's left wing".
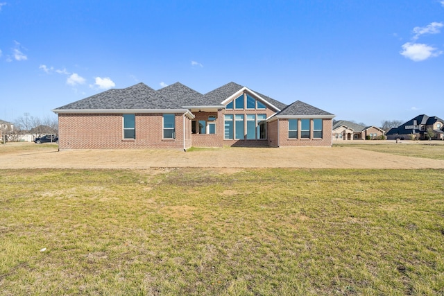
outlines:
[{"label": "long white eave above the brick house's left wing", "polygon": [[56,114],[155,114],[155,113],[183,113],[194,119],[188,109],[53,109]]}]

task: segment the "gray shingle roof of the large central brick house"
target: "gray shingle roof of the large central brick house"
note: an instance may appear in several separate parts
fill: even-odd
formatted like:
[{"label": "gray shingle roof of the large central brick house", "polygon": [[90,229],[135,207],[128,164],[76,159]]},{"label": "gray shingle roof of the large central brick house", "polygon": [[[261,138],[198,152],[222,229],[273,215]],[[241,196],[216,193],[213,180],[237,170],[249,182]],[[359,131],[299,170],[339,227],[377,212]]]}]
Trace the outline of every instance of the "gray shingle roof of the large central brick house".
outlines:
[{"label": "gray shingle roof of the large central brick house", "polygon": [[[248,87],[243,87],[234,82],[229,82],[217,89],[200,94],[194,89],[176,82],[173,85],[154,90],[144,83],[138,83],[124,89],[109,89],[105,92],[89,96],[83,100],[76,101],[58,107],[53,111],[58,112],[104,112],[104,110],[183,110],[194,106],[221,106],[222,102],[237,92],[245,89],[252,92],[268,103],[270,107],[278,108],[275,110],[279,116],[327,116],[334,117],[333,114],[321,109],[296,101],[291,105],[285,105],[269,96],[264,96]],[[273,109],[273,108],[272,108]]]}]

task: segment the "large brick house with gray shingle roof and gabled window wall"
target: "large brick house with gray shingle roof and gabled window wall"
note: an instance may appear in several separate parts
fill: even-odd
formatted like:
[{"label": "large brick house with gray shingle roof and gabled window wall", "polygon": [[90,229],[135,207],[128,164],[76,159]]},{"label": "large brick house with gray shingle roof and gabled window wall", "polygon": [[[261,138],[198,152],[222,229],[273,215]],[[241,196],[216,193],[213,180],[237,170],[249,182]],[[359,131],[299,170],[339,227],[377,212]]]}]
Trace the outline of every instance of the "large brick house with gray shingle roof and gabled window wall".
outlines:
[{"label": "large brick house with gray shingle roof and gabled window wall", "polygon": [[332,146],[334,115],[230,82],[207,94],[139,83],[58,107],[59,148]]}]

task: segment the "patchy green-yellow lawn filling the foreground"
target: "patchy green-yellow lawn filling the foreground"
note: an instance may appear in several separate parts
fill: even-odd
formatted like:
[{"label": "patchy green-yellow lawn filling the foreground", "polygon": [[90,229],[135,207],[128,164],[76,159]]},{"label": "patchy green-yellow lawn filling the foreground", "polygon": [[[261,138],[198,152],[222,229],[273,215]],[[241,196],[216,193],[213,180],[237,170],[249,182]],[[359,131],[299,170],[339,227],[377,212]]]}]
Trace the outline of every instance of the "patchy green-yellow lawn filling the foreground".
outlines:
[{"label": "patchy green-yellow lawn filling the foreground", "polygon": [[443,295],[443,170],[0,170],[0,295]]}]

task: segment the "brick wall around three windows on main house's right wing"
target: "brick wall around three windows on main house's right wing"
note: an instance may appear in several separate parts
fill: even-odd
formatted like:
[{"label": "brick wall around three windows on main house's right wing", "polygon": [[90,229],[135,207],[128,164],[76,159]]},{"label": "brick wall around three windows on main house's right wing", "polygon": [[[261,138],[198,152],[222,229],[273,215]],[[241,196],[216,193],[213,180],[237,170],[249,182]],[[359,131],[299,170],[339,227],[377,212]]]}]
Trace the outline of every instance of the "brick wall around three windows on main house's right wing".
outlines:
[{"label": "brick wall around three windows on main house's right wing", "polygon": [[300,120],[298,121],[298,139],[289,139],[288,119],[279,119],[279,146],[332,146],[332,119],[323,119],[322,139],[313,138],[313,121],[310,120],[310,139],[300,138]]}]

